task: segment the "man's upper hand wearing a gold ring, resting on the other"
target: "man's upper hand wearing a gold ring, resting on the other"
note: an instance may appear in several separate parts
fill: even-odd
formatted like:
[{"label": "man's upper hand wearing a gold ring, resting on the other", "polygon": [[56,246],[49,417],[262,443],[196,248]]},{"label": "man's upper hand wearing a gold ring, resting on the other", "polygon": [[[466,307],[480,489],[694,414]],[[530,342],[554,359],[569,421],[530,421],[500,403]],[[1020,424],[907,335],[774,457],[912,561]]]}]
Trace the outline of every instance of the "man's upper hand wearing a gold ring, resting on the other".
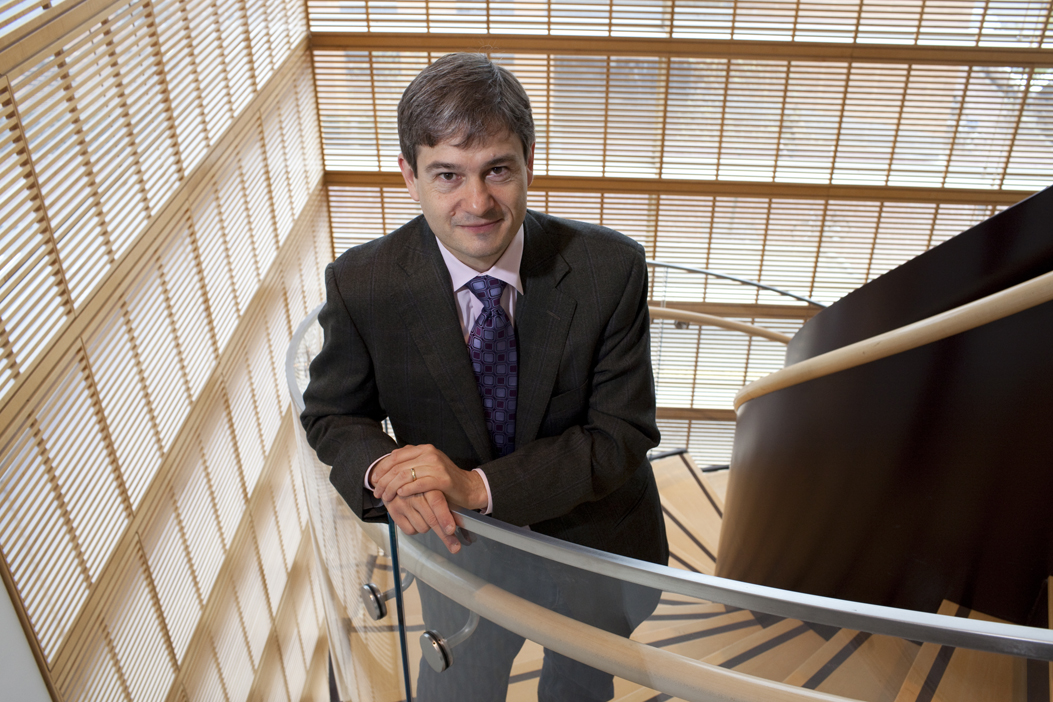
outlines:
[{"label": "man's upper hand wearing a gold ring, resting on the other", "polygon": [[373,466],[370,479],[374,497],[385,504],[396,498],[438,490],[457,506],[468,509],[486,507],[486,488],[482,477],[474,470],[461,470],[431,444],[396,448]]}]

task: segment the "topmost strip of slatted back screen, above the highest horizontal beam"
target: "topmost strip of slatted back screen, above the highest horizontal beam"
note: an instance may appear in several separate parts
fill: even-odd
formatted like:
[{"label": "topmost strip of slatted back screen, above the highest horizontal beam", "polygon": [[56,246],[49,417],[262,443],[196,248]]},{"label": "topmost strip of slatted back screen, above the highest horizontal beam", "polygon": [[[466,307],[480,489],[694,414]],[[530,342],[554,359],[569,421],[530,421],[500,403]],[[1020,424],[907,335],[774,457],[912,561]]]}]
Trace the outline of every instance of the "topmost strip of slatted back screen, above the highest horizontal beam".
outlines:
[{"label": "topmost strip of slatted back screen, above the highest horizontal beam", "polygon": [[466,33],[560,37],[735,39],[782,42],[1049,46],[1042,3],[988,0],[932,3],[900,0],[866,5],[829,2],[660,3],[610,2],[544,5],[395,0],[310,0],[312,29]]}]

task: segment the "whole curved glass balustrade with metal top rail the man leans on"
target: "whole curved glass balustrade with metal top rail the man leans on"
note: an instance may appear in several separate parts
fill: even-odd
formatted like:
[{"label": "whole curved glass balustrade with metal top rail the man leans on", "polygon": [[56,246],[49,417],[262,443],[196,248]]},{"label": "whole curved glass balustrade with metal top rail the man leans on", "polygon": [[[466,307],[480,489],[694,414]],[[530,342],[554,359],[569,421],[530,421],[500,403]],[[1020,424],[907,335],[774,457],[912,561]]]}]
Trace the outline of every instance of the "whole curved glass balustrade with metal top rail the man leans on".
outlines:
[{"label": "whole curved glass balustrade with metal top rail the man leans on", "polygon": [[[286,363],[297,410],[320,343],[310,316]],[[694,528],[699,510],[676,506],[683,485],[704,488],[689,461],[682,480],[670,477],[676,466],[658,480],[678,567],[471,513],[454,555],[432,535],[361,522],[297,436],[342,700],[941,699],[937,688],[942,699],[1050,699],[1046,628],[950,602],[927,614],[713,577],[707,529],[719,523]]]}]

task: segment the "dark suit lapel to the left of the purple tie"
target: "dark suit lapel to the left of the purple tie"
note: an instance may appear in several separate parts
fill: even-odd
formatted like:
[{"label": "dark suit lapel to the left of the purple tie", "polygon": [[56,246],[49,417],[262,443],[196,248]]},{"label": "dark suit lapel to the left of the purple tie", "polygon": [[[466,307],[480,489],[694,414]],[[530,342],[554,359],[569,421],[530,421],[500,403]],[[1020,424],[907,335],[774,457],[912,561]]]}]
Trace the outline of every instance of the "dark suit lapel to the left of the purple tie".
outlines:
[{"label": "dark suit lapel to the left of the purple tie", "polygon": [[[421,218],[420,236],[398,257],[404,285],[416,314],[406,314],[406,326],[424,366],[439,386],[472,447],[483,463],[492,460],[490,434],[482,416],[479,390],[469,363],[468,348],[457,318],[453,283],[435,235]],[[406,310],[409,313],[409,310]]]}]

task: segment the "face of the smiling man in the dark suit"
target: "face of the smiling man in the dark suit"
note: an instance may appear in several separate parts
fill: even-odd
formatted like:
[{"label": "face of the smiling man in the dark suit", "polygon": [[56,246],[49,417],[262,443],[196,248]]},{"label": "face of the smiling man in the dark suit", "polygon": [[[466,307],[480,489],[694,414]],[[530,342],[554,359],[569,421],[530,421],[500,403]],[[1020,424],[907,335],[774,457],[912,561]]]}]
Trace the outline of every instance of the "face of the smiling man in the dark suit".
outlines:
[{"label": "face of the smiling man in the dark suit", "polygon": [[416,175],[401,155],[398,164],[439,241],[475,270],[490,268],[526,216],[534,146],[524,158],[522,142],[506,133],[469,148],[450,141],[419,146]]}]

